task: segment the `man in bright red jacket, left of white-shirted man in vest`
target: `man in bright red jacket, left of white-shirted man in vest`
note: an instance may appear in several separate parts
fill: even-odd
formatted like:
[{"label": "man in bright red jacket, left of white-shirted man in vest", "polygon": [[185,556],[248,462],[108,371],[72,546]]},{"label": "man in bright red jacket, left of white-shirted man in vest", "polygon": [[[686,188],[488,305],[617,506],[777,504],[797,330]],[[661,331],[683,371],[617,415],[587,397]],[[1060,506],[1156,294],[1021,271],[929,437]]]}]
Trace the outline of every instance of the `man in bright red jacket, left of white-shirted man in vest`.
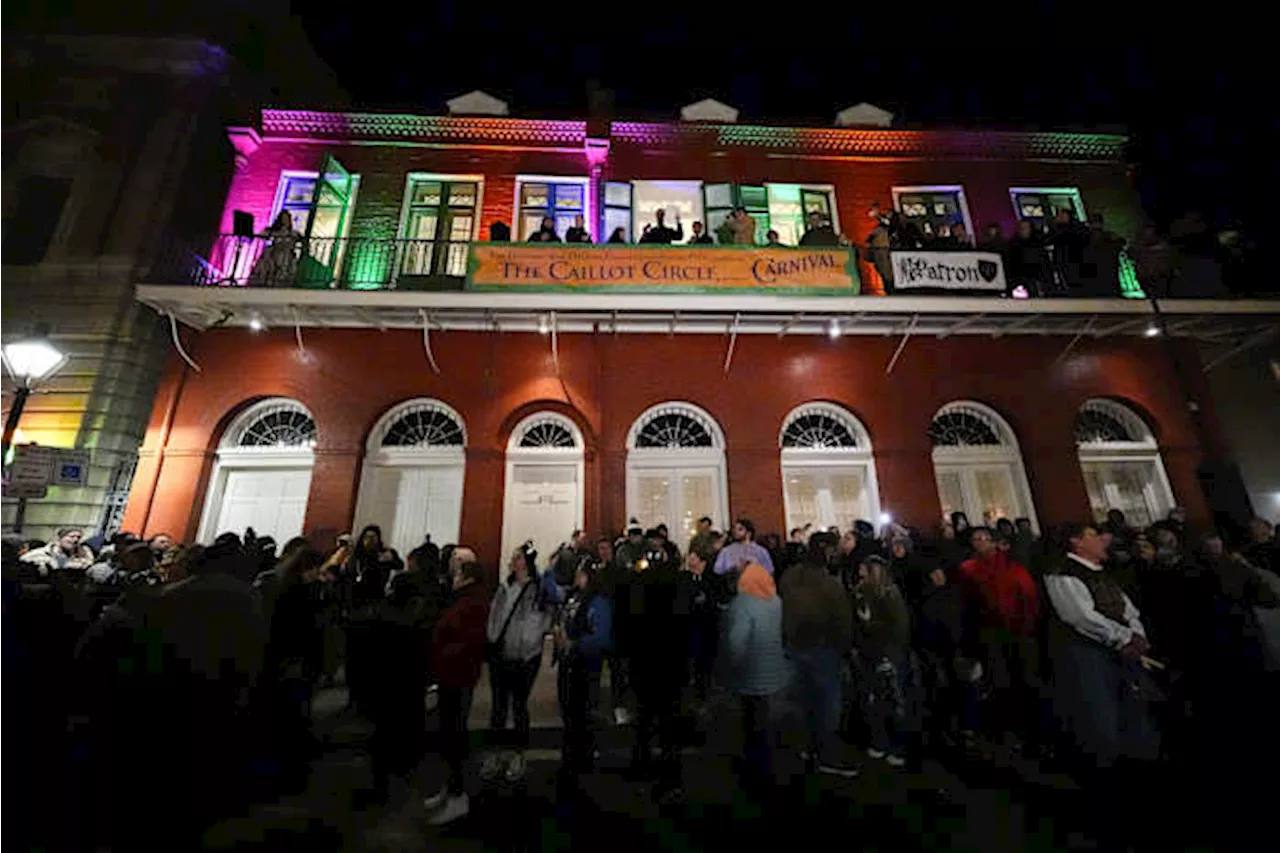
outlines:
[{"label": "man in bright red jacket, left of white-shirted man in vest", "polygon": [[960,564],[960,583],[969,646],[991,674],[988,726],[1004,738],[1036,734],[1036,581],[996,544],[989,529],[977,528],[970,543],[974,556]]}]

